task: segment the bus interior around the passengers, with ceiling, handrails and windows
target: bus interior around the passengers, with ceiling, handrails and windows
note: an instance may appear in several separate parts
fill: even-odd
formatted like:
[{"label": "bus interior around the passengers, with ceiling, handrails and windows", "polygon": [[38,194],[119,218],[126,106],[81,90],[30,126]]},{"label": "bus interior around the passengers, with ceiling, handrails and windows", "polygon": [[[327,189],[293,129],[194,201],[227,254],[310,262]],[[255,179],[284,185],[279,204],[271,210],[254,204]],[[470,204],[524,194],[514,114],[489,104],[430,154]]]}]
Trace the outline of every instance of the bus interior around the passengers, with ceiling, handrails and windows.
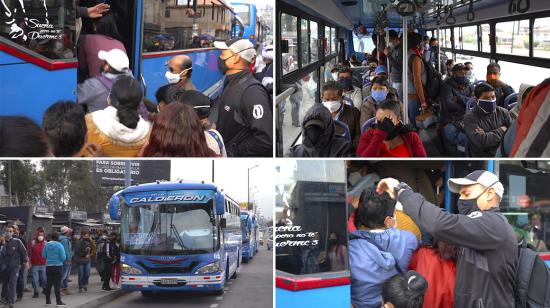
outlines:
[{"label": "bus interior around the passengers, with ceiling, handrails and windows", "polygon": [[[473,69],[468,74],[473,74],[469,75],[472,87],[486,80],[487,66],[490,63],[498,63],[501,67],[500,81],[512,87],[511,93],[508,94],[507,91],[499,94],[498,102],[500,107],[509,111],[514,110],[516,106],[518,112],[522,111],[518,105],[518,92],[522,83],[536,86],[550,77],[548,1],[511,3],[510,0],[277,0],[276,25],[277,156],[289,155],[291,147],[302,143],[301,125],[304,115],[315,103],[322,102],[321,89],[327,82],[338,78],[338,70],[344,65],[348,66],[352,56],[356,56],[358,60],[349,64],[353,72],[353,86],[361,90],[362,96],[362,102],[355,103],[354,107],[361,111],[359,105],[365,104],[370,97],[371,78],[378,74],[362,63],[365,54],[376,58],[379,65],[386,67],[389,85],[395,85],[395,92],[402,101],[401,121],[403,124],[416,125],[428,157],[479,156],[471,153],[468,147],[468,144],[471,144],[469,140],[466,145],[457,145],[453,144],[449,137],[445,138],[444,128],[448,123],[442,123],[441,110],[442,104],[447,101],[446,98],[438,96],[428,99],[428,107],[422,109],[423,116],[416,117],[420,107],[417,107],[416,103],[411,105],[412,98],[409,99],[409,95],[402,94],[411,93],[409,90],[413,87],[402,82],[411,75],[409,58],[402,58],[402,68],[409,69],[404,69],[402,79],[398,80],[398,77],[392,75],[392,65],[382,52],[389,46],[387,41],[390,30],[396,31],[401,37],[401,46],[405,51],[410,47],[407,46],[410,31],[434,38],[434,44],[439,45],[440,56],[432,57],[429,62],[432,66],[441,68],[442,79],[450,76],[445,66],[446,59],[454,60],[455,64],[470,62]],[[375,44],[379,47],[377,53],[373,53]],[[422,43],[423,47],[424,44],[428,44],[427,41]],[[432,47],[428,49],[430,52],[433,51]],[[441,93],[443,83],[439,90]],[[525,98],[527,97],[526,93]],[[535,97],[530,99],[537,100]],[[464,101],[464,104],[458,107],[463,108],[464,112],[475,107],[476,100],[473,97],[468,97]],[[348,104],[351,105],[351,102]],[[525,111],[525,127],[529,128],[529,125],[535,122],[537,106],[531,106]],[[409,118],[411,113],[415,115],[414,118]],[[376,118],[371,117],[369,113],[364,116],[361,123],[357,126],[353,124],[353,127],[349,127],[350,121],[344,123],[340,117],[335,118],[336,138],[347,139],[352,143],[353,156],[361,155],[357,153],[357,147],[353,144],[356,142],[354,138],[377,124]],[[513,124],[517,114],[512,112],[511,117]],[[536,122],[540,122],[541,127],[547,130],[548,125],[544,123],[548,119],[548,114],[544,113],[539,117]],[[508,128],[515,127],[512,124]],[[460,131],[460,127],[458,130]],[[535,139],[538,132],[539,130],[529,131],[528,139]],[[510,135],[513,143],[515,130],[508,129],[505,133]],[[536,148],[547,149],[548,139],[544,141],[545,143]],[[511,145],[506,143],[503,147],[509,149]],[[513,155],[507,152],[509,151],[491,153],[490,157]],[[513,153],[516,153],[515,149]],[[546,154],[544,150],[529,152],[530,157],[545,157]],[[527,155],[519,157],[523,156]]]}]

